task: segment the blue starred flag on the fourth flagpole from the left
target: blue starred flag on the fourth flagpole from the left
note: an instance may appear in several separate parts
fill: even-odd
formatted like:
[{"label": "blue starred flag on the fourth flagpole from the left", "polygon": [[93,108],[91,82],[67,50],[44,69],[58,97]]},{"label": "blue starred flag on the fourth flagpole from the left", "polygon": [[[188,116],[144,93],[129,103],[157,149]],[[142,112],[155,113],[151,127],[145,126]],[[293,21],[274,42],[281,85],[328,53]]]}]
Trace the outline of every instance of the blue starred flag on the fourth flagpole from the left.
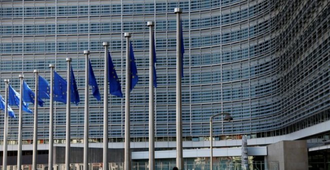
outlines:
[{"label": "blue starred flag on the fourth flagpole from the left", "polygon": [[66,104],[66,80],[54,71],[54,101]]}]

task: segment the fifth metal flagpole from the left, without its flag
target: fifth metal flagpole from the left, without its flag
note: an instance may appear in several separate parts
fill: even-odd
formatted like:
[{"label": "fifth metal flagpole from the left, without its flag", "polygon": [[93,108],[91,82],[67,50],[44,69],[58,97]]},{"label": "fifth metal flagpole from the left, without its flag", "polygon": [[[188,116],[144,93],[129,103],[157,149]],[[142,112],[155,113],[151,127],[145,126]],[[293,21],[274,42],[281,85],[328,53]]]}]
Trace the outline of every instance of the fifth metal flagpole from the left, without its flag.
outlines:
[{"label": "fifth metal flagpole from the left, without its flag", "polygon": [[70,66],[71,58],[66,58],[67,72],[66,72],[66,136],[65,136],[65,169],[70,169],[70,102],[71,102],[71,90],[70,90]]}]

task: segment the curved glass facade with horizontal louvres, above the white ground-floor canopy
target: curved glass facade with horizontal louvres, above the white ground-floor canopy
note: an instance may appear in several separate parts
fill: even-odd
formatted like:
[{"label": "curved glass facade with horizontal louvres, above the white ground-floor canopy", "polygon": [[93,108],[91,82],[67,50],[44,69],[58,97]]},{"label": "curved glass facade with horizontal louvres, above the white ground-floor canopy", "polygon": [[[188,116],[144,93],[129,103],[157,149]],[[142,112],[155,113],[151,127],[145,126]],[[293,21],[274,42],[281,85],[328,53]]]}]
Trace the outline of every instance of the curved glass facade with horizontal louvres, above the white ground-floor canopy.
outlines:
[{"label": "curved glass facade with horizontal louvres, above the white ground-floor canopy", "polygon": [[[155,131],[175,138],[175,14],[184,36],[182,120],[185,139],[209,135],[273,136],[330,118],[328,0],[24,0],[0,2],[0,79],[19,89],[18,74],[34,87],[33,69],[49,80],[50,63],[65,77],[72,58],[80,104],[71,106],[71,138],[83,137],[84,55],[102,87],[103,41],[124,87],[125,42],[132,32],[139,81],[131,92],[131,136],[148,136],[148,27],[155,21],[157,83]],[[22,7],[23,6],[23,7]],[[0,83],[4,96],[4,83]],[[103,90],[100,89],[102,92]],[[124,92],[124,90],[122,90]],[[90,96],[89,136],[102,138],[102,102]],[[65,105],[56,103],[54,138],[65,138]],[[14,107],[16,114],[18,109]],[[48,139],[49,101],[38,110],[38,136]],[[32,138],[32,115],[23,113],[23,138]],[[109,137],[122,141],[124,99],[109,97]],[[3,116],[0,117],[3,122]],[[9,119],[9,139],[18,119]],[[0,136],[3,134],[0,133]],[[167,138],[168,137],[168,138]],[[191,138],[192,137],[192,138]],[[42,139],[41,138],[41,139]],[[40,138],[39,138],[40,139]],[[135,140],[136,139],[136,140]],[[174,139],[175,140],[175,139]]]}]

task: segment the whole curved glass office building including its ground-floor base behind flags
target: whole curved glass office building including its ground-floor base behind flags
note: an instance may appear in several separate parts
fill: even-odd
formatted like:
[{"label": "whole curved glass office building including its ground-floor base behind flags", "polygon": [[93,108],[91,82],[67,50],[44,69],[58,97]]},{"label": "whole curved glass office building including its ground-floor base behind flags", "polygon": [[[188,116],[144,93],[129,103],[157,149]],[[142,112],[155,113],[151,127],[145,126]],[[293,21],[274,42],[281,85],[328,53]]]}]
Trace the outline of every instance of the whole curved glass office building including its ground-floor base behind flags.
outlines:
[{"label": "whole curved glass office building including its ground-floor base behind flags", "polygon": [[[1,0],[0,93],[3,79],[19,90],[18,74],[34,87],[33,69],[50,79],[49,64],[66,75],[72,58],[80,103],[71,106],[71,162],[82,163],[84,54],[90,50],[103,91],[104,47],[121,88],[125,84],[125,38],[131,32],[139,80],[131,91],[133,169],[147,168],[149,28],[154,21],[155,164],[175,165],[176,14],[182,9],[184,41],[182,135],[184,169],[207,169],[210,116],[213,164],[239,169],[241,138],[247,138],[250,169],[330,169],[329,0]],[[109,169],[124,155],[124,98],[108,98]],[[32,106],[31,106],[32,107]],[[18,114],[18,108],[12,106]],[[102,162],[103,103],[89,99],[90,163]],[[3,145],[0,113],[0,157]],[[54,105],[54,164],[64,163],[65,104]],[[16,165],[18,119],[9,118],[8,165]],[[49,100],[38,109],[37,163],[47,164]],[[32,164],[33,114],[23,113],[22,164]],[[2,162],[2,158],[0,160]],[[25,167],[25,166],[24,166]],[[28,167],[28,166],[27,166]],[[43,166],[39,166],[40,168]],[[54,165],[56,167],[56,165]],[[75,166],[79,167],[79,165]],[[215,167],[215,166],[214,166]],[[44,169],[47,169],[44,166]]]}]

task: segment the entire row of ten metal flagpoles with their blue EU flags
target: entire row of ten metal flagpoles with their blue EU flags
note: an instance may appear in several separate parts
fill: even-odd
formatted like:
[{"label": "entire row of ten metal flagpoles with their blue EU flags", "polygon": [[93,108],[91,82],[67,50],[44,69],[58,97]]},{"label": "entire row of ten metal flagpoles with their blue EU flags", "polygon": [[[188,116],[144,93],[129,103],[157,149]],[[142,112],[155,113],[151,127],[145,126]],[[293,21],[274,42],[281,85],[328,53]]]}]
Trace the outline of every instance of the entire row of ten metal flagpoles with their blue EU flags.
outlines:
[{"label": "entire row of ten metal flagpoles with their blue EU flags", "polygon": [[[174,12],[177,14],[177,29],[176,29],[176,166],[178,169],[183,168],[182,156],[182,120],[181,120],[181,77],[183,76],[182,58],[184,53],[182,23],[180,19],[180,8],[175,8]],[[154,41],[154,22],[147,22],[149,26],[149,169],[154,169],[154,94],[153,87],[157,87],[156,83],[156,53]],[[130,33],[124,33],[126,38],[126,86],[125,86],[125,136],[124,136],[124,169],[130,169],[130,136],[129,136],[129,93],[137,84],[137,68],[134,59],[133,47],[130,41]],[[109,93],[118,97],[123,97],[121,86],[114,69],[114,65],[108,51],[108,42],[103,42],[104,46],[104,91],[103,91],[103,169],[108,169],[107,163],[107,148],[108,148],[108,88]],[[93,73],[91,62],[88,58],[89,51],[83,51],[85,55],[85,86],[84,86],[84,147],[83,147],[83,167],[88,169],[88,117],[89,117],[89,86],[92,87],[92,95],[100,100],[100,93],[98,85]],[[36,151],[37,151],[37,106],[43,106],[42,99],[50,99],[49,105],[49,157],[48,167],[52,169],[53,165],[53,101],[66,103],[66,135],[65,135],[65,169],[70,169],[70,102],[78,105],[80,102],[77,85],[75,82],[73,69],[71,66],[71,58],[66,58],[67,61],[67,75],[66,80],[62,78],[55,70],[54,64],[50,64],[50,83],[38,75],[38,70],[34,70],[35,75],[35,89],[34,92],[27,83],[23,80],[23,75],[20,74],[20,93],[15,91],[9,84],[9,79],[4,79],[5,82],[5,98],[0,95],[0,109],[4,110],[4,135],[3,135],[3,164],[2,167],[7,166],[7,126],[8,118],[15,118],[15,114],[10,106],[19,107],[18,116],[18,149],[17,149],[17,167],[21,167],[21,135],[22,135],[22,111],[32,113],[28,108],[26,102],[34,103],[34,122],[33,122],[33,155],[32,155],[32,169],[36,170]],[[152,87],[153,86],[153,87]],[[35,99],[36,98],[36,99]],[[68,102],[70,101],[70,102]],[[20,169],[20,168],[18,168]]]}]

